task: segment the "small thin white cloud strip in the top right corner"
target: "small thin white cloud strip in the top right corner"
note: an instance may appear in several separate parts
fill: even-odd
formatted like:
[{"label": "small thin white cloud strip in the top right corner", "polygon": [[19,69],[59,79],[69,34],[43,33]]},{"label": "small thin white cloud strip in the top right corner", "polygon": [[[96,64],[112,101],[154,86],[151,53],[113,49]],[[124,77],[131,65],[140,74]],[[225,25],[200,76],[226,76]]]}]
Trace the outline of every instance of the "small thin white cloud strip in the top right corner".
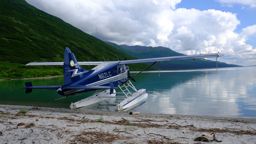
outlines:
[{"label": "small thin white cloud strip in the top right corner", "polygon": [[[251,8],[256,7],[255,0],[218,0],[221,4],[233,7],[234,4],[249,5]],[[244,8],[244,7],[242,7]]]}]

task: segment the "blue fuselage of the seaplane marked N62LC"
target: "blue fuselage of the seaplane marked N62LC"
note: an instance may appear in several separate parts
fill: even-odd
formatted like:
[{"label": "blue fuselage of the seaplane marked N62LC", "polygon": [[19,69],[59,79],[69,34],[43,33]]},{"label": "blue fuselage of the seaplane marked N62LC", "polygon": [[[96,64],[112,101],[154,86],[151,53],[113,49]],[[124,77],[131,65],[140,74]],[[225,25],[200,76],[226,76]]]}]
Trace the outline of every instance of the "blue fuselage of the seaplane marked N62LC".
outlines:
[{"label": "blue fuselage of the seaplane marked N62LC", "polygon": [[[79,76],[79,75],[77,75]],[[97,89],[65,89],[69,86],[110,86],[109,83],[113,82],[114,87],[127,82],[129,76],[129,69],[125,64],[119,62],[102,62],[91,69],[91,73],[80,78],[75,83],[63,85],[57,90],[60,95],[74,95],[82,92],[94,91]]]}]

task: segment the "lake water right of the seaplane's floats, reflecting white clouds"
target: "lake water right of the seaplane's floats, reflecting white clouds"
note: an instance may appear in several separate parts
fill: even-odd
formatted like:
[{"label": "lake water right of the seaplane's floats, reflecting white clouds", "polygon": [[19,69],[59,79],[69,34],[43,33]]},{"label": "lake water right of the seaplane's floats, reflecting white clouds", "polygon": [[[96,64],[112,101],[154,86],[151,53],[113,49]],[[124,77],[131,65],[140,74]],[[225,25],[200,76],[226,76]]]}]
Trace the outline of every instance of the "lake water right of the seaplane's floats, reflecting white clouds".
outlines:
[{"label": "lake water right of the seaplane's floats, reflecting white clouds", "polygon": [[[144,83],[148,85],[144,87],[148,87],[149,98],[136,110],[147,110],[148,113],[251,117],[256,107],[253,96],[256,90],[253,84],[256,80],[254,70],[236,68],[219,73],[160,73],[163,76],[160,81],[155,79],[158,73],[147,75]],[[168,77],[165,75],[172,76],[166,79]],[[153,82],[149,80],[152,76]]]}]

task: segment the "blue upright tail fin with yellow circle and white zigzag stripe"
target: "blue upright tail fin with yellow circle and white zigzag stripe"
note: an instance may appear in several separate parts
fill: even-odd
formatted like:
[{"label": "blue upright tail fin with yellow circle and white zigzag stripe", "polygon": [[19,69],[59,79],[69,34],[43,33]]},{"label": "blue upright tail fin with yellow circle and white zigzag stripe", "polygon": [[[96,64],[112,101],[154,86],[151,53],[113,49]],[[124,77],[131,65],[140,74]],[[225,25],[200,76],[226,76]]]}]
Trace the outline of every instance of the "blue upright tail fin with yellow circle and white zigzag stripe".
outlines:
[{"label": "blue upright tail fin with yellow circle and white zigzag stripe", "polygon": [[74,83],[91,72],[91,70],[85,70],[80,67],[74,54],[71,53],[68,47],[65,49],[63,65],[64,84]]}]

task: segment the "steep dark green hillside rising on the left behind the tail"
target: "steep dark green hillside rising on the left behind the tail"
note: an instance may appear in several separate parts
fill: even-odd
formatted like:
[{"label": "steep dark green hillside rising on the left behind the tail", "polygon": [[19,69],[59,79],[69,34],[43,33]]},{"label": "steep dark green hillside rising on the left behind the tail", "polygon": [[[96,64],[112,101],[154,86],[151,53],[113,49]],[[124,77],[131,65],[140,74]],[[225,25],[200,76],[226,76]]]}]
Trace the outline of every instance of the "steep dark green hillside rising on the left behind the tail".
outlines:
[{"label": "steep dark green hillside rising on the left behind the tail", "polygon": [[[66,47],[78,61],[104,61],[103,56],[106,61],[135,59],[24,0],[0,1],[0,31],[0,79],[62,75],[62,66],[25,64],[63,61]],[[146,66],[129,65],[132,71]]]}]

